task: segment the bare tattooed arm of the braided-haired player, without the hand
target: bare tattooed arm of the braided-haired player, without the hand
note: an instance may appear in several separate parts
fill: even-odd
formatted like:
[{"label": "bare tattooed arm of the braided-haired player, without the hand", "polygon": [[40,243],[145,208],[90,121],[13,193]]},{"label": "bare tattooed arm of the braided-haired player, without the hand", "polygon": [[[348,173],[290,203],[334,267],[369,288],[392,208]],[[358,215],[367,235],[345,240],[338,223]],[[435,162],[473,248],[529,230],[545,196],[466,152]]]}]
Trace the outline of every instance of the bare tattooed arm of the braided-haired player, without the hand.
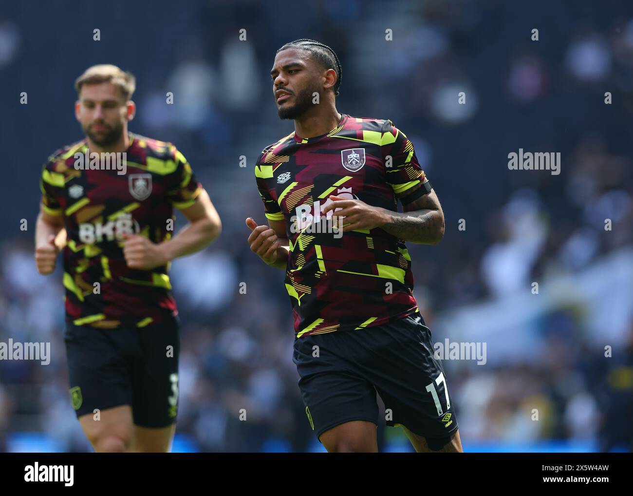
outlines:
[{"label": "bare tattooed arm of the braided-haired player, without the hand", "polygon": [[[422,184],[417,184],[408,189],[405,194],[410,194]],[[433,189],[417,200],[403,205],[403,213],[388,212],[389,220],[381,226],[404,241],[419,243],[422,245],[437,245],[444,236],[444,212]]]}]

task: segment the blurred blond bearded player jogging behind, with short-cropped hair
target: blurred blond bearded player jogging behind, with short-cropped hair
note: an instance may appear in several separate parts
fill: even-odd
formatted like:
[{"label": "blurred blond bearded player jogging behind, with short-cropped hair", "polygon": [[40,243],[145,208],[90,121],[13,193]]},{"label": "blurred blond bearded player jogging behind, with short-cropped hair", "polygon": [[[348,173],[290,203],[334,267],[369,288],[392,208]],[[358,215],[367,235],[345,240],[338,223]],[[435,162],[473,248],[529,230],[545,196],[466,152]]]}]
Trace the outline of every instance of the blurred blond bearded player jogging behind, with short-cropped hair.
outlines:
[{"label": "blurred blond bearded player jogging behind, with short-cropped hair", "polygon": [[[42,169],[37,269],[53,273],[63,248],[70,395],[94,450],[166,452],[180,339],[168,269],[209,245],[220,217],[173,144],[128,131],[132,74],[96,65],[75,87],[85,139]],[[174,208],[189,223],[172,237]]]}]

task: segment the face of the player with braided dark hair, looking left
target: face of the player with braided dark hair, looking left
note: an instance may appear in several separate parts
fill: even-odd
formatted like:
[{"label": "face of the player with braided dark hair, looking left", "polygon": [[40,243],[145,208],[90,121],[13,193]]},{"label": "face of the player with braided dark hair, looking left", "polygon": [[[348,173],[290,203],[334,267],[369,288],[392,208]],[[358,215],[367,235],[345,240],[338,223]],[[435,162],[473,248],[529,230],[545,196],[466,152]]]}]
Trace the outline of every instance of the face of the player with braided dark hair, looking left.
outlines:
[{"label": "face of the player with braided dark hair, looking left", "polygon": [[[277,113],[282,119],[296,119],[312,108],[314,93],[322,92],[322,73],[304,50],[285,49],[275,57],[270,71]],[[282,93],[286,94],[282,94]]]}]

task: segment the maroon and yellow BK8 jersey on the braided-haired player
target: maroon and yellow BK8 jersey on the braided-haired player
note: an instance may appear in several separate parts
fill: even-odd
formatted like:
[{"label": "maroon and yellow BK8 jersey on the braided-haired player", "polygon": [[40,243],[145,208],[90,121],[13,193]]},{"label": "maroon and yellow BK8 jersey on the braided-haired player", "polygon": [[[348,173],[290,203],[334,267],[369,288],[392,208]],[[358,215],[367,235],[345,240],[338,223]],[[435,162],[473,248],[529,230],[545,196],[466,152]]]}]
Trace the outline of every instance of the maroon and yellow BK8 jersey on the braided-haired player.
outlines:
[{"label": "maroon and yellow BK8 jersey on the braided-haired player", "polygon": [[286,223],[285,287],[298,337],[378,326],[419,311],[402,239],[380,228],[323,232],[330,194],[396,212],[396,195],[426,181],[413,144],[391,120],[343,115],[323,136],[293,132],[263,149],[255,176],[266,217]]}]

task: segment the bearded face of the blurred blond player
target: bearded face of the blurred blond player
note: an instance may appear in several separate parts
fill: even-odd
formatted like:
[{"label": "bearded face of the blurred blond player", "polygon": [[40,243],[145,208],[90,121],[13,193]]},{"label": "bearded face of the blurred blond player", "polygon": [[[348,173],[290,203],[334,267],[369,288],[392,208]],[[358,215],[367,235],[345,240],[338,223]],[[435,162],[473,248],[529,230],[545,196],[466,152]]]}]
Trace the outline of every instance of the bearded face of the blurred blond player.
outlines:
[{"label": "bearded face of the blurred blond player", "polygon": [[75,104],[75,114],[84,134],[93,143],[108,146],[120,139],[125,123],[133,115],[129,103],[110,82],[84,84]]}]

